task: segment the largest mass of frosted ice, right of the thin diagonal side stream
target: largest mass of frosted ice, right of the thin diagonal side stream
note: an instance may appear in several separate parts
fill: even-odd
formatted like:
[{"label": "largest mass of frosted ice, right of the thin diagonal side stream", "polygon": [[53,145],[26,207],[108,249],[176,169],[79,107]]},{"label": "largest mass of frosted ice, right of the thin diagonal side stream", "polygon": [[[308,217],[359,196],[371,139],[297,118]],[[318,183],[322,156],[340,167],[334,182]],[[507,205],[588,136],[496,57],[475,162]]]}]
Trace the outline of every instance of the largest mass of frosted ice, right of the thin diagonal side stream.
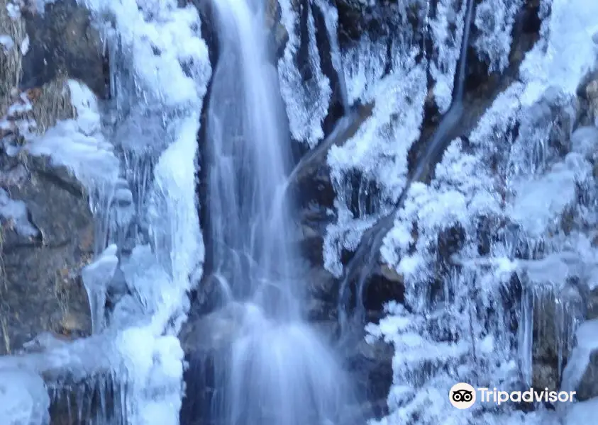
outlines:
[{"label": "largest mass of frosted ice, right of the thin diagonal side stream", "polygon": [[[595,202],[590,163],[594,159],[595,129],[579,130],[572,137],[572,152],[567,150],[577,113],[575,91],[597,57],[592,42],[598,29],[598,6],[594,3],[554,0],[548,15],[543,2],[541,13],[548,16],[543,38],[524,59],[522,81],[497,96],[467,137],[467,144],[459,139],[451,142],[431,183],[415,182],[409,188],[394,227],[384,239],[381,255],[384,263],[402,274],[405,304],[411,313],[389,310],[380,325],[366,327],[368,341],[383,338],[395,347],[390,413],[372,423],[413,423],[414,415],[419,424],[435,425],[556,423],[552,416],[553,422],[542,421],[539,413],[507,412],[487,412],[480,422],[482,416],[473,419],[458,416],[463,413],[453,414],[455,409],[448,406],[444,394],[458,380],[468,382],[475,377],[487,382],[482,385],[509,387],[519,373],[526,373],[513,367],[518,360],[524,365],[521,361],[526,347],[521,346],[518,352],[509,342],[512,335],[504,327],[502,314],[511,313],[496,310],[504,305],[501,291],[514,272],[530,285],[531,294],[548,285],[555,302],[563,304],[571,289],[567,286],[570,278],[578,278],[587,288],[596,285],[592,271],[596,269],[597,250],[590,244],[593,236],[583,234],[594,229],[597,222],[590,206]],[[494,23],[487,26],[494,30],[482,28],[478,33],[477,53],[489,61],[491,71],[501,72],[508,64],[509,28],[521,1],[485,0],[477,7],[478,27],[487,25],[484,16],[492,15]],[[441,28],[434,29],[436,38],[443,39]],[[580,48],[571,49],[571,45]],[[372,91],[369,81],[358,81],[360,87]],[[377,147],[372,156],[375,158],[380,150]],[[333,152],[329,162],[332,157]],[[383,164],[373,162],[375,166]],[[395,176],[387,173],[375,181],[383,186],[385,178]],[[351,224],[340,214],[339,223],[341,218]],[[571,228],[563,231],[567,220]],[[444,231],[454,229],[463,234],[458,246],[454,241],[444,241]],[[484,243],[487,235],[490,239]],[[532,254],[530,258],[513,258],[521,256],[520,250],[535,252],[534,246],[541,243],[539,259]],[[445,258],[441,249],[457,252]],[[455,263],[463,267],[457,268]],[[493,310],[496,316],[485,317],[485,309]],[[484,318],[472,319],[471,311]],[[416,314],[428,317],[428,327],[421,329],[416,324]],[[445,319],[430,324],[427,314],[444,314]],[[575,312],[569,314],[573,315],[567,317],[572,324],[555,324],[563,328],[556,336],[559,352],[569,344],[567,332],[576,326]],[[435,334],[428,334],[430,329],[454,342],[436,339]],[[471,347],[475,347],[475,361],[467,351]],[[418,367],[420,360],[431,367]],[[570,363],[582,364],[579,360]],[[452,371],[448,379],[445,370]]]}]

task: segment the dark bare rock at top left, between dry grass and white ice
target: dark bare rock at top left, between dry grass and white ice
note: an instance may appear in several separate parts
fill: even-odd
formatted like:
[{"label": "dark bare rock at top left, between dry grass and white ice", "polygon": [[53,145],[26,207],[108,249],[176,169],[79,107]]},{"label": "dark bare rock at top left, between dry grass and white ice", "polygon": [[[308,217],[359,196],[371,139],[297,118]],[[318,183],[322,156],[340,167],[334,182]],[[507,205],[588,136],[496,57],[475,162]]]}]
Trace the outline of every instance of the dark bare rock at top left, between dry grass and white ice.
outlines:
[{"label": "dark bare rock at top left, between dry grass and white ice", "polygon": [[89,11],[75,0],[47,4],[42,13],[24,13],[31,40],[23,56],[21,87],[43,86],[67,75],[79,79],[100,98],[108,96],[106,57]]}]

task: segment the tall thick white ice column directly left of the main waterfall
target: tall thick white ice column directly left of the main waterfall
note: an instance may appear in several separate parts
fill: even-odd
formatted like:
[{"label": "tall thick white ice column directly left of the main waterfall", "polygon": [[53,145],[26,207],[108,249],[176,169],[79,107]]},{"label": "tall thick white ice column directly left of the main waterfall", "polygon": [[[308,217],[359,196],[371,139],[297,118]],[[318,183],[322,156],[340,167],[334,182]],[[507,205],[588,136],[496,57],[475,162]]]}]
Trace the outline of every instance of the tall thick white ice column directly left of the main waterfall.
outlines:
[{"label": "tall thick white ice column directly left of the main waterfall", "polygon": [[[53,164],[67,167],[87,188],[98,225],[99,251],[83,271],[96,334],[73,344],[52,344],[50,351],[32,353],[23,364],[34,370],[50,369],[59,380],[65,368],[82,377],[98,369],[99,373],[111,370],[127,381],[123,383],[128,388],[128,424],[177,425],[183,352],[175,335],[189,308],[189,276],[193,273],[193,283],[197,283],[204,259],[195,175],[199,112],[211,75],[208,50],[201,39],[199,14],[192,5],[177,8],[177,1],[172,0],[81,3],[99,20],[106,44],[121,48],[122,55],[111,56],[112,71],[126,68],[132,73],[131,81],[118,74],[111,82],[114,89],[120,89],[117,103],[124,99],[137,121],[128,132],[114,133],[129,140],[110,140],[112,134],[102,126],[104,109],[99,108],[96,96],[84,84],[70,80],[65,89],[70,91],[75,118],[60,121],[44,135],[26,135],[30,154],[48,156]],[[109,22],[113,25],[106,25]],[[127,91],[128,84],[132,91]],[[148,126],[148,140],[140,140],[140,130]],[[140,185],[133,193],[121,176],[117,156],[121,154],[115,154],[114,145],[130,154],[128,148],[135,141],[142,145],[135,154],[149,152],[155,158],[152,174],[143,180],[147,187]],[[145,142],[159,146],[148,151]],[[96,198],[98,192],[103,193],[101,198]],[[113,210],[113,203],[120,206]],[[101,244],[106,235],[126,234],[133,216],[147,225],[150,244],[135,246],[119,265],[117,245]],[[118,267],[131,295],[117,300],[102,328],[106,291]],[[94,350],[106,358],[99,361]],[[18,360],[7,358],[5,363],[13,362]]]}]

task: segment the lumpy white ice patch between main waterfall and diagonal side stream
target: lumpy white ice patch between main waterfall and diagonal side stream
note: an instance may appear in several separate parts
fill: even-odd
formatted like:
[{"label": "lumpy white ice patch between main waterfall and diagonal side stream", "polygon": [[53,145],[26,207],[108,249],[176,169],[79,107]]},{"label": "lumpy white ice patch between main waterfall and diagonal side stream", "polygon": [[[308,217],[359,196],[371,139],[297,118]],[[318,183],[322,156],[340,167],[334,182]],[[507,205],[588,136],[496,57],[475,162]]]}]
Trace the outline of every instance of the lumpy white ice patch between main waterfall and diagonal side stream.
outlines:
[{"label": "lumpy white ice patch between main waterfall and diagonal side stream", "polygon": [[[406,183],[407,152],[419,137],[423,118],[426,71],[410,60],[404,65],[406,69],[395,69],[362,94],[362,101],[375,103],[372,116],[343,146],[333,146],[328,152],[338,220],[326,229],[324,264],[336,276],[342,273],[342,249],[354,250],[363,232],[375,221],[375,217],[365,216],[365,211],[355,217],[348,210],[351,196],[345,194],[347,176],[359,171],[362,183],[377,183],[381,189],[381,205],[377,208],[380,212],[399,198]],[[348,79],[348,84],[355,81]],[[367,189],[364,194],[367,196]]]}]

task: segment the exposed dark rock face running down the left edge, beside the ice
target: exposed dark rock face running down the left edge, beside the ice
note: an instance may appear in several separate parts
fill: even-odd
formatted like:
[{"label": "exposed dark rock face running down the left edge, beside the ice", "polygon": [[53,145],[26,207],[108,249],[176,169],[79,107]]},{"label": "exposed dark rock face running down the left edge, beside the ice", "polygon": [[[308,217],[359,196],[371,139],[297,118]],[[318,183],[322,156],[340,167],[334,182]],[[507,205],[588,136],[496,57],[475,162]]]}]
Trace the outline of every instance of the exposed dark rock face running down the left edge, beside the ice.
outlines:
[{"label": "exposed dark rock face running down the left edge, beside the ice", "polygon": [[66,169],[19,145],[74,118],[68,78],[107,94],[101,39],[84,8],[16,4],[0,0],[0,33],[10,38],[0,49],[0,354],[44,331],[67,339],[91,331],[80,278],[94,247],[87,194]]}]

